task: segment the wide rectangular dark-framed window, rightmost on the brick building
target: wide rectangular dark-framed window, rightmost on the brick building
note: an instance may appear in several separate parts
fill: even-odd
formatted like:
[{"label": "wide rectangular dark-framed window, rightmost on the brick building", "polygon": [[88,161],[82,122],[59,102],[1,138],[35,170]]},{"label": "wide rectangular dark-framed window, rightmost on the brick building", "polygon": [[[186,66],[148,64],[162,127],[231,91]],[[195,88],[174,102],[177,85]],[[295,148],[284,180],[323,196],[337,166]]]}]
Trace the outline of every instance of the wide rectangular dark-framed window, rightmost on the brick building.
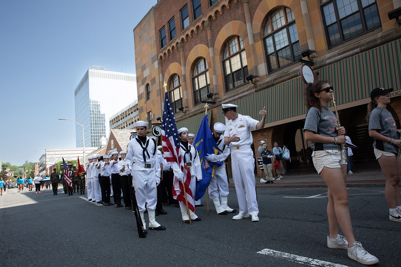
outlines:
[{"label": "wide rectangular dark-framed window, rightmost on the brick building", "polygon": [[329,47],[341,44],[381,26],[375,0],[332,0],[326,2],[322,5],[322,13]]}]

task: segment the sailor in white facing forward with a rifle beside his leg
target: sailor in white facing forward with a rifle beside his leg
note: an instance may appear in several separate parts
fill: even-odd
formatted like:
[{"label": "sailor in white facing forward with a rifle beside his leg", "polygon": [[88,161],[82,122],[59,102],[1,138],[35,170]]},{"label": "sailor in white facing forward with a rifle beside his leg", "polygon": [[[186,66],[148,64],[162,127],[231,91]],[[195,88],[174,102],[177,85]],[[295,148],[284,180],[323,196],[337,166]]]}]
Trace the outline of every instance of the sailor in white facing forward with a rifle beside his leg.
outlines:
[{"label": "sailor in white facing forward with a rifle beside his leg", "polygon": [[161,172],[156,153],[156,142],[146,136],[148,122],[139,120],[134,122],[134,127],[138,137],[131,139],[128,143],[126,161],[132,163],[131,174],[134,177],[136,202],[142,223],[146,229],[144,211],[145,203],[148,203],[149,229],[166,230],[166,227],[160,225],[155,219],[157,185],[160,183]]}]

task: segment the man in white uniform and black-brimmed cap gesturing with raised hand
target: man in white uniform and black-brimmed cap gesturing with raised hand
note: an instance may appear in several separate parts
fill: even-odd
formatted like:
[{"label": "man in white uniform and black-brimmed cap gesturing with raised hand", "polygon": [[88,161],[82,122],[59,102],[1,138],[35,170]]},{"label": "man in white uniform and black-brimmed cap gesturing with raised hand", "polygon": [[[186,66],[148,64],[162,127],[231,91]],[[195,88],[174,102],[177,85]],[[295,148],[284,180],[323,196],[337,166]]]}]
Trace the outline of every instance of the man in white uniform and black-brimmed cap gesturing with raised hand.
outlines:
[{"label": "man in white uniform and black-brimmed cap gesturing with raised hand", "polygon": [[238,114],[236,105],[222,104],[221,107],[227,118],[224,144],[230,145],[231,170],[239,205],[239,214],[235,215],[233,220],[248,218],[251,215],[251,221],[259,221],[255,189],[255,160],[251,149],[253,143],[251,128],[263,129],[267,115],[266,107],[259,111],[259,115],[262,116],[260,121]]}]

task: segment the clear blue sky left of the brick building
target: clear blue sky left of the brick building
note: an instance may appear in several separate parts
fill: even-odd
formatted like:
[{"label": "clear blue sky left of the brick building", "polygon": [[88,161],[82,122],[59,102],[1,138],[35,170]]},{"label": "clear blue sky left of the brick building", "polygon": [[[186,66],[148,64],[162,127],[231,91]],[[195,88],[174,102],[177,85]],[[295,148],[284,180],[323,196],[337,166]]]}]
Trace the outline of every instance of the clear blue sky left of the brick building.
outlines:
[{"label": "clear blue sky left of the brick building", "polygon": [[132,30],[156,0],[0,1],[0,157],[75,147],[74,90],[87,68],[135,73]]}]

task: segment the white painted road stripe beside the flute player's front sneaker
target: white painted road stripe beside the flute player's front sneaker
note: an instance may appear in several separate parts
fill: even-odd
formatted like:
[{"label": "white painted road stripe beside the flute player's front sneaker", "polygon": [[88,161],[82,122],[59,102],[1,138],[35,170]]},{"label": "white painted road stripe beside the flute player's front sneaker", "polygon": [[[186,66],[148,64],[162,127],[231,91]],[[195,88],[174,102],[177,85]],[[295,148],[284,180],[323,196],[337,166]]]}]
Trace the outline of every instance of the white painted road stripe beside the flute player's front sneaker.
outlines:
[{"label": "white painted road stripe beside the flute player's front sneaker", "polygon": [[315,266],[315,267],[321,267],[321,266],[326,266],[326,267],[349,267],[347,265],[342,265],[338,263],[332,263],[328,261],[321,261],[319,259],[312,259],[312,258],[307,258],[295,254],[290,254],[286,252],[281,252],[281,251],[276,251],[273,249],[263,249],[261,251],[258,251],[257,253],[263,254],[263,255],[268,255],[272,257],[276,257],[279,259],[285,259],[287,261],[292,261],[295,263],[300,263],[300,264],[305,264],[309,266]]}]

